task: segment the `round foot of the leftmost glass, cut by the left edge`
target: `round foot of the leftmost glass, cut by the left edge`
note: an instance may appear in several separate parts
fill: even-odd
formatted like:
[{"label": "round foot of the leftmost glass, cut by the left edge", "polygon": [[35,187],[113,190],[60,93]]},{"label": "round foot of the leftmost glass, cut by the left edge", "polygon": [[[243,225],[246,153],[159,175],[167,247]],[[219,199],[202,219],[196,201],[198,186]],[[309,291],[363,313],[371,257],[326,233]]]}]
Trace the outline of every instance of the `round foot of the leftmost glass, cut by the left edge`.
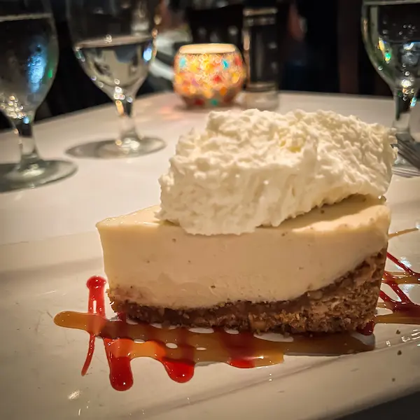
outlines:
[{"label": "round foot of the leftmost glass, cut by the left edge", "polygon": [[12,163],[0,164],[0,192],[36,188],[74,174],[77,166],[66,160],[39,160],[22,169]]}]

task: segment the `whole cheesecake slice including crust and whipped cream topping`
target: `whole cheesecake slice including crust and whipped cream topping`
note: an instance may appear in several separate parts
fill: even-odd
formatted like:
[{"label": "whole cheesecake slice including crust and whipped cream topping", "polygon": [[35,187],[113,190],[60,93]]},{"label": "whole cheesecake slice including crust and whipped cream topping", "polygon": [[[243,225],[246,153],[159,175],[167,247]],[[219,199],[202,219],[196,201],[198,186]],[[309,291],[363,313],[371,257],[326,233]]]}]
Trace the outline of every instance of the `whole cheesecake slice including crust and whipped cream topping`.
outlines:
[{"label": "whole cheesecake slice including crust and whipped cream topping", "polygon": [[393,133],[318,111],[209,113],[160,206],[99,223],[116,311],[150,323],[336,332],[374,315]]}]

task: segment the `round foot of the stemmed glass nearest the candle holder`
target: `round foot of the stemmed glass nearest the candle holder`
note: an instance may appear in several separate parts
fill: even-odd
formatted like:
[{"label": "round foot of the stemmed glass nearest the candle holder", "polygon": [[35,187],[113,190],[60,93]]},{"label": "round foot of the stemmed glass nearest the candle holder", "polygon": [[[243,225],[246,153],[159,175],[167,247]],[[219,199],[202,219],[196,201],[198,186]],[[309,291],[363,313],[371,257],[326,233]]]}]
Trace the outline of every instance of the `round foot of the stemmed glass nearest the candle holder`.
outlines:
[{"label": "round foot of the stemmed glass nearest the candle holder", "polygon": [[137,158],[165,147],[165,141],[156,137],[141,137],[141,139],[132,137],[124,141],[103,140],[80,144],[69,148],[66,153],[74,158]]}]

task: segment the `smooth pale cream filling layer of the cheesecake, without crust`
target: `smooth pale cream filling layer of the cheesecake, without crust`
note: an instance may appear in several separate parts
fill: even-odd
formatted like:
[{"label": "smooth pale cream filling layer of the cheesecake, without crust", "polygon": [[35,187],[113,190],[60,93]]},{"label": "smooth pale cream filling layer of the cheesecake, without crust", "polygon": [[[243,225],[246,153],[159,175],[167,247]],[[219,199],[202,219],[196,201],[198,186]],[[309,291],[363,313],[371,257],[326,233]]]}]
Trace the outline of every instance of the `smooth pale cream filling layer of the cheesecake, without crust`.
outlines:
[{"label": "smooth pale cream filling layer of the cheesecake, without crust", "polygon": [[113,295],[174,309],[290,300],[322,288],[385,248],[390,223],[384,202],[363,196],[243,235],[190,235],[158,221],[158,210],[97,228]]}]

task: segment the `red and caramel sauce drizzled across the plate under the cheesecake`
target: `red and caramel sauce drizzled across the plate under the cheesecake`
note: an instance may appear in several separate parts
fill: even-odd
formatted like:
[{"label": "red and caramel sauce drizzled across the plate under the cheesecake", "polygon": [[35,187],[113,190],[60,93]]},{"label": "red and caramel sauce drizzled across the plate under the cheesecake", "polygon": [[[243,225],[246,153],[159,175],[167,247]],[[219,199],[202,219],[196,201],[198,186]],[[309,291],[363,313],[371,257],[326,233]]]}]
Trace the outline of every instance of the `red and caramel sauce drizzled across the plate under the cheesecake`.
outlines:
[{"label": "red and caramel sauce drizzled across the plate under the cheesecake", "polygon": [[[390,237],[404,235],[417,229],[395,232]],[[415,304],[400,289],[399,284],[420,285],[420,274],[414,272],[391,254],[388,259],[402,268],[403,272],[385,272],[383,282],[388,284],[400,301],[393,300],[383,291],[383,302],[378,308],[391,309],[391,314],[376,315],[368,323],[363,335],[372,335],[377,323],[404,323],[420,325],[420,305]],[[57,314],[54,322],[62,327],[84,330],[89,333],[87,356],[82,375],[92,362],[96,338],[103,339],[110,368],[111,385],[117,391],[132,387],[131,360],[149,357],[160,361],[171,379],[189,381],[195,365],[204,362],[221,362],[250,368],[275,365],[283,362],[288,354],[342,355],[374,349],[374,340],[367,344],[356,334],[340,333],[325,335],[293,335],[292,341],[269,341],[255,337],[251,332],[231,334],[222,328],[211,333],[193,332],[187,328],[158,328],[146,323],[127,323],[124,314],[111,320],[105,314],[106,280],[93,276],[87,281],[89,301],[87,313],[64,311]],[[139,342],[141,340],[141,342]]]}]

